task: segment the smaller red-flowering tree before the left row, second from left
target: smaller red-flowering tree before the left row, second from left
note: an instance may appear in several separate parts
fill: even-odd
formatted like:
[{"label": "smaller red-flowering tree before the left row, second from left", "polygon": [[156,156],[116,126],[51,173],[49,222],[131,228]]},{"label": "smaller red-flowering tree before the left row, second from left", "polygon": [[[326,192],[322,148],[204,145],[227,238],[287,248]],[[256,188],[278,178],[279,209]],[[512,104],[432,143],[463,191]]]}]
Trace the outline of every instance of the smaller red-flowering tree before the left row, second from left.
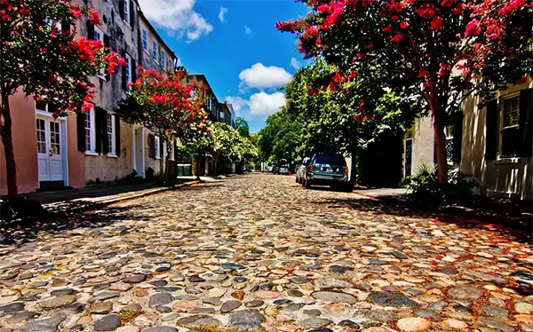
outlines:
[{"label": "smaller red-flowering tree before the left row, second from left", "polygon": [[[203,87],[186,84],[187,73],[179,70],[162,75],[154,69],[137,68],[138,79],[130,83],[131,92],[119,102],[116,112],[126,123],[138,123],[161,138],[159,151],[166,143],[171,155],[173,142],[191,130],[207,132],[208,115],[203,109]],[[160,174],[167,178],[167,167],[160,160]]]}]

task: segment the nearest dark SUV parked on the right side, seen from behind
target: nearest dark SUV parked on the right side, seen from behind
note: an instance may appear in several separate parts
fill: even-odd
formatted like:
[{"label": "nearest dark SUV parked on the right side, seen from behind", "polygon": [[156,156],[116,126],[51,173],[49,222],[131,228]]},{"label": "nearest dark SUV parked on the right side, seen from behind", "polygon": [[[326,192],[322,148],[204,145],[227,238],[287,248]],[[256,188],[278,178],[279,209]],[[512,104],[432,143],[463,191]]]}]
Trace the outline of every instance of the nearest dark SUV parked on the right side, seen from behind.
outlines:
[{"label": "nearest dark SUV parked on the right side, seen from behind", "polygon": [[346,160],[342,154],[315,154],[303,173],[302,185],[306,189],[317,185],[352,192],[354,186],[349,180],[348,173]]}]

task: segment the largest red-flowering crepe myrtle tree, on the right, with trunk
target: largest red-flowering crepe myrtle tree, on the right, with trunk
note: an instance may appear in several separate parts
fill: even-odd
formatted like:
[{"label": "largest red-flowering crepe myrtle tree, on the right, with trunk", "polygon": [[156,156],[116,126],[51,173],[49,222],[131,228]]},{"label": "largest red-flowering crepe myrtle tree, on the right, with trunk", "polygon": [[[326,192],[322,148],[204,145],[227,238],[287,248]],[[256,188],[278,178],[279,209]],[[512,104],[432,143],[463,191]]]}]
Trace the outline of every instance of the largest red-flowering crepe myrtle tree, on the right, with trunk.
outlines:
[{"label": "largest red-flowering crepe myrtle tree, on the right, with trunk", "polygon": [[447,181],[444,129],[462,101],[474,95],[486,105],[533,71],[531,0],[297,1],[309,7],[306,17],[276,27],[296,34],[307,58],[322,55],[338,67],[339,81],[385,71],[373,87],[424,102],[440,183]]}]

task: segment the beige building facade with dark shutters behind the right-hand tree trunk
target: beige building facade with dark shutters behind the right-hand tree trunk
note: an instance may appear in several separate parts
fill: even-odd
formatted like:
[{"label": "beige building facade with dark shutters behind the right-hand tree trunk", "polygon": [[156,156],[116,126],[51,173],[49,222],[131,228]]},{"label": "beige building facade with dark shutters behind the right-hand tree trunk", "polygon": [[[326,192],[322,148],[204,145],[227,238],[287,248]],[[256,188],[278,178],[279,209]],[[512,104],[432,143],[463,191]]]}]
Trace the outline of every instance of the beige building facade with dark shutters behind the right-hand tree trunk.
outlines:
[{"label": "beige building facade with dark shutters behind the right-hand tree trunk", "polygon": [[[481,194],[533,200],[533,89],[531,83],[502,91],[486,107],[471,97],[446,130],[449,165],[470,175]],[[404,175],[434,165],[434,131],[422,118],[404,139]]]}]

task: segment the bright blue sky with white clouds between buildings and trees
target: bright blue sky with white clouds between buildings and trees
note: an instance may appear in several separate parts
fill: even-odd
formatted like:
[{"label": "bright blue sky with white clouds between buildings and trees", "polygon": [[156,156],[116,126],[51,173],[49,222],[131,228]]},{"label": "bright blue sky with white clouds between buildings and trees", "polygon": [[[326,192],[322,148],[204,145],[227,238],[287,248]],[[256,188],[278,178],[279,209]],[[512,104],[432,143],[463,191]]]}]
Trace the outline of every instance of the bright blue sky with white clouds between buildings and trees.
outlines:
[{"label": "bright blue sky with white clouds between buildings and trees", "polygon": [[227,100],[259,131],[284,104],[279,88],[304,63],[295,40],[276,20],[306,14],[294,0],[139,0],[142,11],[193,74],[206,75],[220,102]]}]

